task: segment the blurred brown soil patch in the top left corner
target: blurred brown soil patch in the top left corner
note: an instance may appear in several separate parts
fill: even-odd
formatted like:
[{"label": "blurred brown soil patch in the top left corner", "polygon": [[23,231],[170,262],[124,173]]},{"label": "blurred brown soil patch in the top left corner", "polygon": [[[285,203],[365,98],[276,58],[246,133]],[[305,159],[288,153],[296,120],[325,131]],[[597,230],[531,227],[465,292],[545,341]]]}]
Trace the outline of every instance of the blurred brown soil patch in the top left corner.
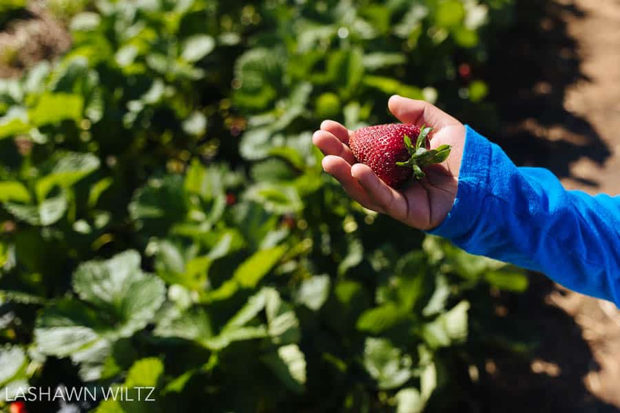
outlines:
[{"label": "blurred brown soil patch in the top left corner", "polygon": [[18,76],[42,60],[52,60],[71,45],[64,26],[37,2],[0,32],[0,78]]}]

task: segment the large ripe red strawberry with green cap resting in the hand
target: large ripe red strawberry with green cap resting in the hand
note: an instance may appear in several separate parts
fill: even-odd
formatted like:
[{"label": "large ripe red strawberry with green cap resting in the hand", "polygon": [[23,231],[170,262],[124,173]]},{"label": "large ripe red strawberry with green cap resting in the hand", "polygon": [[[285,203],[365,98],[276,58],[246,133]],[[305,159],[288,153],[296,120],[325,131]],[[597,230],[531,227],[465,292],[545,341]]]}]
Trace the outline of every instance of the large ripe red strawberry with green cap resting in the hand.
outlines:
[{"label": "large ripe red strawberry with green cap resting in the hand", "polygon": [[[444,162],[450,145],[428,149],[430,127],[392,123],[358,129],[349,138],[349,147],[358,162],[371,167],[379,178],[396,188],[415,176],[424,178],[423,167]],[[415,145],[411,142],[415,137]]]}]

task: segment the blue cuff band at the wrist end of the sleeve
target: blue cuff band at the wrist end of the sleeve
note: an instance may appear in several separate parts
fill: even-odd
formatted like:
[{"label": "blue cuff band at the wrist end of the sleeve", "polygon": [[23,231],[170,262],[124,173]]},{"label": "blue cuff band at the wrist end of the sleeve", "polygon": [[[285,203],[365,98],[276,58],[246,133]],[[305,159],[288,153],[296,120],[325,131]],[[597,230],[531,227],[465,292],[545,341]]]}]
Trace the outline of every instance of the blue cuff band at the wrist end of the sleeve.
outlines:
[{"label": "blue cuff band at the wrist end of the sleeve", "polygon": [[427,233],[455,240],[475,228],[486,195],[491,145],[486,138],[466,125],[457,196],[446,219]]}]

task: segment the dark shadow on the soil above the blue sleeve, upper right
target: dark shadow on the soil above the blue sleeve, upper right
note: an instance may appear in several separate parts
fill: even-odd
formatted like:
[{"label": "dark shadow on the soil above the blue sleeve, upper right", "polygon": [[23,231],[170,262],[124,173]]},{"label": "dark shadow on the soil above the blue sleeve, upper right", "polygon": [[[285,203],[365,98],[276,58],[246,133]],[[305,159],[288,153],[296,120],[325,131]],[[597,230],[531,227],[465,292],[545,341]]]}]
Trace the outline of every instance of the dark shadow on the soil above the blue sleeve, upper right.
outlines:
[{"label": "dark shadow on the soil above the blue sleeve, upper right", "polygon": [[583,156],[602,164],[610,149],[587,120],[564,109],[568,87],[590,81],[581,72],[578,44],[566,23],[586,14],[569,1],[516,3],[517,24],[499,39],[487,65],[490,100],[498,103],[502,123],[493,140],[517,165],[546,167],[595,187],[596,182],[572,176],[570,162]]}]

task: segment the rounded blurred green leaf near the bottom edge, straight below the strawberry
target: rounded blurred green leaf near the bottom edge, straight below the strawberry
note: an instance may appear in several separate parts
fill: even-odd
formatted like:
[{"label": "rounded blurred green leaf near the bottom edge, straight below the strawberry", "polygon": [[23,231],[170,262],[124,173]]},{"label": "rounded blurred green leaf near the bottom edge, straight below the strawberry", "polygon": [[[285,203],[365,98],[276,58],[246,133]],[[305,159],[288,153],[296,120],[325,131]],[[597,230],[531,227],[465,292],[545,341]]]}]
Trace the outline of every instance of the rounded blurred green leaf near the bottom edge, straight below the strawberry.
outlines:
[{"label": "rounded blurred green leaf near the bottom edge, straight below the strawberry", "polygon": [[381,390],[398,388],[413,376],[413,360],[387,339],[366,338],[364,368]]}]

